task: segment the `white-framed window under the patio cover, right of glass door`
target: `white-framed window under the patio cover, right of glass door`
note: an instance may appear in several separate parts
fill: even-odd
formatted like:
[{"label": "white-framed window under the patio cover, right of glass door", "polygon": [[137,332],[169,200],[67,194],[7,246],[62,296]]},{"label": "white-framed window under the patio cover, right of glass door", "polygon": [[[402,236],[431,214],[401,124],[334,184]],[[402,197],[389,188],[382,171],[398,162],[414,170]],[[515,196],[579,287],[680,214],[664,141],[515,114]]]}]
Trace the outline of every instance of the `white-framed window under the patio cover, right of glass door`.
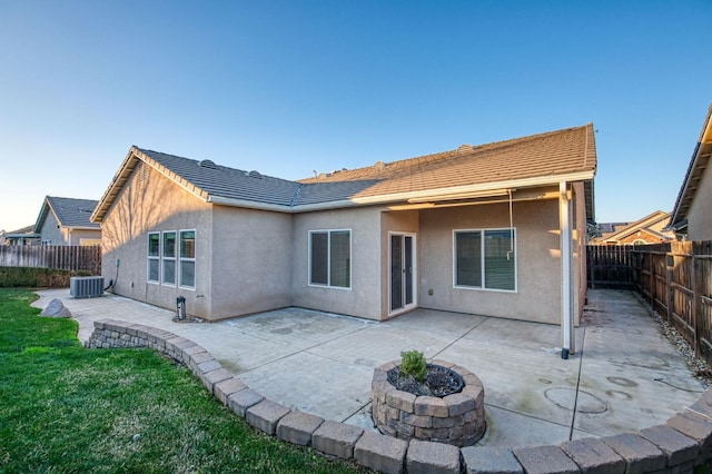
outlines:
[{"label": "white-framed window under the patio cover, right of glass door", "polygon": [[455,230],[455,286],[516,290],[514,244],[514,229]]}]

